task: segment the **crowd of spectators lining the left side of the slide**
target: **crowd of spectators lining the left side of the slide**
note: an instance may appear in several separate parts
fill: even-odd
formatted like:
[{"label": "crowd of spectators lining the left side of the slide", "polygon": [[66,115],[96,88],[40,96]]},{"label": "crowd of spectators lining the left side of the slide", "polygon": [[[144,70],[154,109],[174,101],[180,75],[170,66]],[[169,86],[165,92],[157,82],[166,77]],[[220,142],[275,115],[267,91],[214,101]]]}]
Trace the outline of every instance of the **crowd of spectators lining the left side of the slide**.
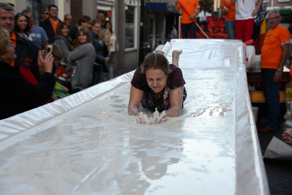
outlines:
[{"label": "crowd of spectators lining the left side of the slide", "polygon": [[0,98],[0,120],[112,79],[119,46],[104,19],[102,13],[95,20],[82,15],[72,26],[70,14],[61,21],[58,7],[50,5],[36,25],[31,10],[15,13],[13,6],[0,3],[0,75],[3,84],[14,78],[2,86],[10,93]]}]

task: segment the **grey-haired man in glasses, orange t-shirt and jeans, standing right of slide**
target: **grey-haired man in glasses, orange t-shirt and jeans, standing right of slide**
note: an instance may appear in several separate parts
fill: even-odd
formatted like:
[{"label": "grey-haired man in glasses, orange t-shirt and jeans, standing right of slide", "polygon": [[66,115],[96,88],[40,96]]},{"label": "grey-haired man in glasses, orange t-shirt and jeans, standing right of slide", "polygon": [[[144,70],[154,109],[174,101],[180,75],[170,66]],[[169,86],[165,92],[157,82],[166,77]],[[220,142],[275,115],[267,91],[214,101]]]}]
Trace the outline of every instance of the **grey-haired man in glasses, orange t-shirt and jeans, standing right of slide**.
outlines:
[{"label": "grey-haired man in glasses, orange t-shirt and jeans, standing right of slide", "polygon": [[271,29],[265,36],[260,59],[261,80],[268,111],[266,126],[260,129],[260,132],[277,131],[281,124],[280,80],[290,44],[290,32],[280,24],[281,19],[278,10],[269,12],[268,21]]}]

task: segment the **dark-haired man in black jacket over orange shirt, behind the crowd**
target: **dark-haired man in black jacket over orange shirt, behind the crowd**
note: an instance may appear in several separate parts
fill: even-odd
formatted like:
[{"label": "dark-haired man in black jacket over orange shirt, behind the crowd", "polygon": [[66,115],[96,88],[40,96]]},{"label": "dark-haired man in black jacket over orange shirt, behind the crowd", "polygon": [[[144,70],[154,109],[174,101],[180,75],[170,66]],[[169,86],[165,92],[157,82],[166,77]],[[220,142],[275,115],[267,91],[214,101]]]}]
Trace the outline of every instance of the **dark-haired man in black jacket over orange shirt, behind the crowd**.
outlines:
[{"label": "dark-haired man in black jacket over orange shirt, behind the crowd", "polygon": [[55,34],[56,34],[56,28],[58,24],[61,22],[61,20],[57,17],[58,16],[58,7],[55,5],[48,6],[49,10],[49,17],[42,21],[39,26],[42,27],[49,39],[49,44],[54,43],[55,41]]}]

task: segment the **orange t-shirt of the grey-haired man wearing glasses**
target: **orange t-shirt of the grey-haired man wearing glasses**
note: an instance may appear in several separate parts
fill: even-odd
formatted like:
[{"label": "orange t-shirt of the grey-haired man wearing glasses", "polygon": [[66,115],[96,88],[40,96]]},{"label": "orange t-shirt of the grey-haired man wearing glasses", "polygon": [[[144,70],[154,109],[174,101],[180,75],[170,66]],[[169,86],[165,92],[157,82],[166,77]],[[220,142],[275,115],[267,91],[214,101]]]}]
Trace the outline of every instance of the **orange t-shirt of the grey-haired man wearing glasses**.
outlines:
[{"label": "orange t-shirt of the grey-haired man wearing glasses", "polygon": [[290,32],[279,25],[270,29],[264,39],[260,56],[260,68],[278,69],[283,53],[282,45],[290,43]]}]

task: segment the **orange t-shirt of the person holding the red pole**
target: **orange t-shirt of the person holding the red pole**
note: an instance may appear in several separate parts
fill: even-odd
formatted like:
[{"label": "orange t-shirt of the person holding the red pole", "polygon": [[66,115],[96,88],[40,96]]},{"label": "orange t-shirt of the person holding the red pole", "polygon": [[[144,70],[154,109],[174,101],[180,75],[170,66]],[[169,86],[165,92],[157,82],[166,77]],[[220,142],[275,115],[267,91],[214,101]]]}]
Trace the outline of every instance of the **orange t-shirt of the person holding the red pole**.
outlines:
[{"label": "orange t-shirt of the person holding the red pole", "polygon": [[[190,15],[194,15],[196,13],[195,8],[199,8],[198,0],[180,0],[177,4],[178,9],[182,8],[182,24],[193,23],[194,21],[190,19]],[[195,19],[195,18],[194,18]]]}]

